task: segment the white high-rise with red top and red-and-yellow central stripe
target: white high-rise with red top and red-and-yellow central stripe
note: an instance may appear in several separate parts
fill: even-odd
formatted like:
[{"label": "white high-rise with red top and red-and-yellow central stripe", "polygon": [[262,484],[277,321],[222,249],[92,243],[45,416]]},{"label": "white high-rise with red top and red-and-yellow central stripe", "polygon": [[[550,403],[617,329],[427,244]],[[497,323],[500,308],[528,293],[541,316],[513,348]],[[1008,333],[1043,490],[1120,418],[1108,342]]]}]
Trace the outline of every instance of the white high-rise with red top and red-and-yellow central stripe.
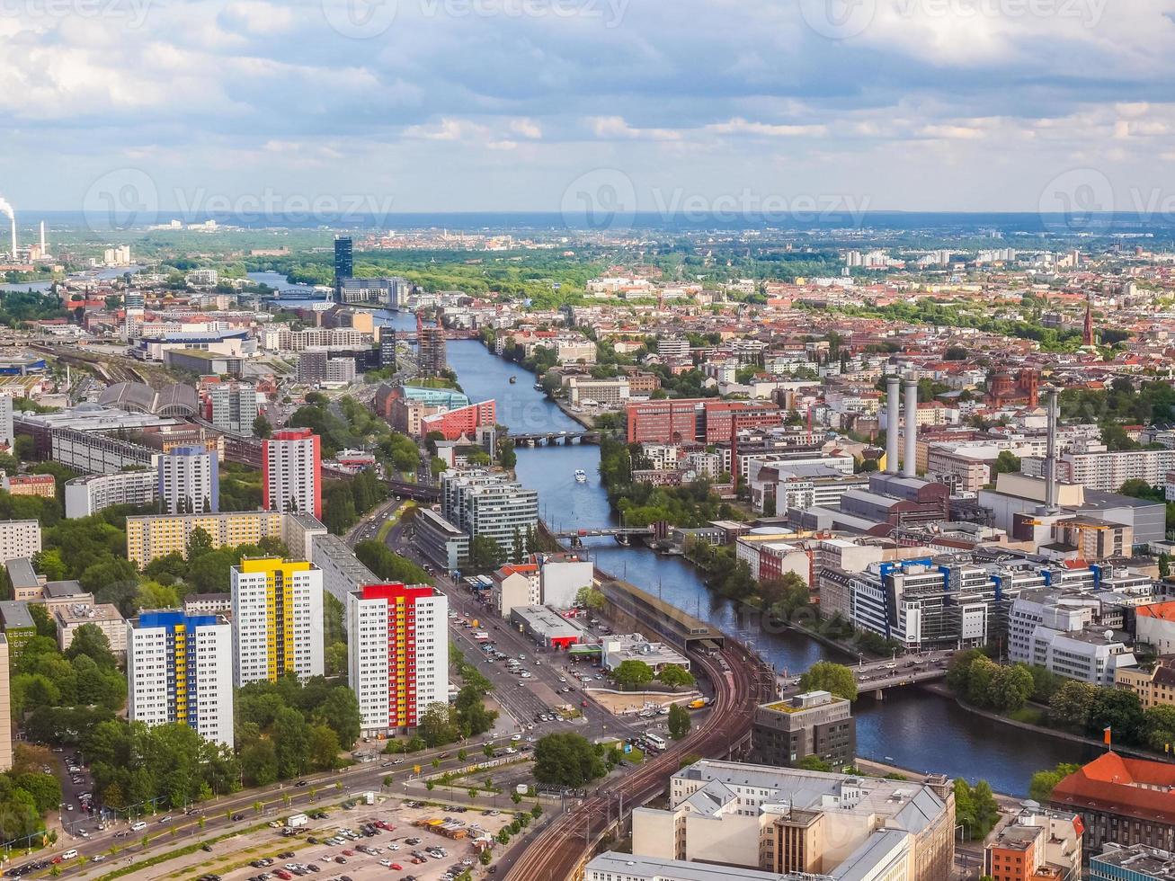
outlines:
[{"label": "white high-rise with red top and red-and-yellow central stripe", "polygon": [[427,585],[369,584],[347,594],[349,682],[363,733],[416,727],[449,700],[449,599]]}]

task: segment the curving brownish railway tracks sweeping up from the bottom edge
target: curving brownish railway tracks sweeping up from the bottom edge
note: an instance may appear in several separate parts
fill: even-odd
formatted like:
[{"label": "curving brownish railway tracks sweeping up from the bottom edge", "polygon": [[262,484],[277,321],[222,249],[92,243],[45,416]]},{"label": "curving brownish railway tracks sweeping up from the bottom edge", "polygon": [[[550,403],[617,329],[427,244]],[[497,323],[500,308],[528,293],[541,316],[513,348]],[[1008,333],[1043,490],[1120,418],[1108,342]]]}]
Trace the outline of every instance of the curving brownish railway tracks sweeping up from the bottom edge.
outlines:
[{"label": "curving brownish railway tracks sweeping up from the bottom edge", "polygon": [[657,795],[678,771],[685,755],[725,756],[751,728],[754,708],[772,688],[758,665],[748,664],[741,647],[727,646],[725,661],[694,655],[714,684],[714,704],[703,722],[683,741],[646,761],[636,772],[606,784],[582,805],[548,826],[523,852],[505,881],[555,881],[571,877],[591,842],[610,825],[611,802],[618,795],[640,805]]}]

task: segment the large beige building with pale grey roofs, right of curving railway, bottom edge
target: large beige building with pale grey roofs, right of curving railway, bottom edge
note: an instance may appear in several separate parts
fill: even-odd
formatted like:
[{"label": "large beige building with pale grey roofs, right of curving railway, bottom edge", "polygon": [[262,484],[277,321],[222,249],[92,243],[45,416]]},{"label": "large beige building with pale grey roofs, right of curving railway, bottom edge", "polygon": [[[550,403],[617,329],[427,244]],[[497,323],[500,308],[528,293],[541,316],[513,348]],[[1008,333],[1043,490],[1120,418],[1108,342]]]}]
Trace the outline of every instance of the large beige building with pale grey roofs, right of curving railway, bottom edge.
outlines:
[{"label": "large beige building with pale grey roofs, right of curving railway, bottom edge", "polygon": [[632,853],[777,873],[848,865],[859,873],[852,877],[942,881],[954,861],[953,785],[701,760],[673,775],[667,809],[632,812]]}]

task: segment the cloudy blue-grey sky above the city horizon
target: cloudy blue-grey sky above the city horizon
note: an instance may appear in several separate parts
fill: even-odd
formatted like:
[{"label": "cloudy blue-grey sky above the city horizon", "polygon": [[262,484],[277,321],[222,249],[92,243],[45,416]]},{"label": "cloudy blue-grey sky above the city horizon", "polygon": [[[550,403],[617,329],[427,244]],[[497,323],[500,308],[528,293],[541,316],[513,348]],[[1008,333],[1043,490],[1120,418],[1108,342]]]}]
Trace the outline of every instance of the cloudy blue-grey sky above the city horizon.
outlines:
[{"label": "cloudy blue-grey sky above the city horizon", "polygon": [[0,196],[1175,216],[1175,0],[0,0]]}]

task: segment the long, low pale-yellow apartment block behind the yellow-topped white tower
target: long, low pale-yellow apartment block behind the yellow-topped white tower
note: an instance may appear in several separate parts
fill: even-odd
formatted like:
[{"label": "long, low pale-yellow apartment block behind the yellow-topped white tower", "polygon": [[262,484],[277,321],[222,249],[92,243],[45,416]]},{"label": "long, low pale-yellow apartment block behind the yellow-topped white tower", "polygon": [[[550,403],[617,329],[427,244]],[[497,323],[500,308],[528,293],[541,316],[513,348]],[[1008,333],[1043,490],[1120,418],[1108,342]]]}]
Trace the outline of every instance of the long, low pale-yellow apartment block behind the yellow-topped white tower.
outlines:
[{"label": "long, low pale-yellow apartment block behind the yellow-topped white tower", "polygon": [[[155,476],[152,475],[154,478]],[[286,540],[287,515],[277,511],[226,511],[199,515],[152,515],[127,518],[127,559],[145,566],[169,553],[187,556],[188,539],[197,529],[212,538],[216,547],[255,545],[263,538]],[[33,522],[35,523],[35,520]],[[2,531],[0,531],[2,536]],[[291,552],[296,549],[287,543]],[[36,550],[40,550],[38,542]],[[18,554],[31,556],[31,554]]]}]

